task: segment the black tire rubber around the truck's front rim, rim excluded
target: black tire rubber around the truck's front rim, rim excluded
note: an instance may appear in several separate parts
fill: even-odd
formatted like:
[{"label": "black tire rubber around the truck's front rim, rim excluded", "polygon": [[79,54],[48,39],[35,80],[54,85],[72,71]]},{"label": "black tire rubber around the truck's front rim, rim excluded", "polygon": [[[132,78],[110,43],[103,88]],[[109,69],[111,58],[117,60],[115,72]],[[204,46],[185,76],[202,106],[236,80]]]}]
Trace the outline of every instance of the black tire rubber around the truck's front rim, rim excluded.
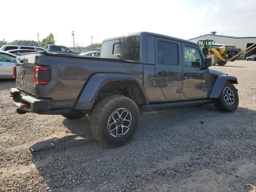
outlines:
[{"label": "black tire rubber around the truck's front rim, rim excluded", "polygon": [[[233,104],[228,104],[225,101],[224,94],[223,94],[223,91],[225,88],[230,88],[232,90],[232,92],[234,93],[234,103]],[[236,110],[236,108],[238,107],[238,103],[239,103],[239,97],[238,97],[238,92],[237,92],[237,89],[235,88],[235,86],[232,83],[227,82],[220,93],[220,97],[218,99],[214,99],[213,103],[214,103],[214,106],[216,108],[218,108],[220,111],[231,112],[231,111]]]}]

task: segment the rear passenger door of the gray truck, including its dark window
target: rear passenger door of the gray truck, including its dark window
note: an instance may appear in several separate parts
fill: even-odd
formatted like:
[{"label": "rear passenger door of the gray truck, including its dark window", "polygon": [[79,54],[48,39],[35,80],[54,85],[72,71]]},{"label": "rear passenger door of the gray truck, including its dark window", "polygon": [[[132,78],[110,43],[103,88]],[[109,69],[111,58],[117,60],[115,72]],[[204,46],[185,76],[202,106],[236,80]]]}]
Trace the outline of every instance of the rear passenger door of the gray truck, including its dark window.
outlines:
[{"label": "rear passenger door of the gray truck, including its dark window", "polygon": [[180,42],[155,38],[155,76],[166,99],[180,98],[182,92],[182,56]]}]

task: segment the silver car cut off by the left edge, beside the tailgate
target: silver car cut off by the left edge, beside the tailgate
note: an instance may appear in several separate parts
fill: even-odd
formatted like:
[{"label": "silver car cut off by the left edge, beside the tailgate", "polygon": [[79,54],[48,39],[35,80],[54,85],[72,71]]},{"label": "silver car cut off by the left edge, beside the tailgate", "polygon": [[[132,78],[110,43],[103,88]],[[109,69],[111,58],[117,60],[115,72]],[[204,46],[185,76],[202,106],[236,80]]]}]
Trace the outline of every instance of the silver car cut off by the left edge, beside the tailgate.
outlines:
[{"label": "silver car cut off by the left edge, beside the tailgate", "polygon": [[0,79],[13,78],[13,66],[15,65],[16,55],[0,51]]}]

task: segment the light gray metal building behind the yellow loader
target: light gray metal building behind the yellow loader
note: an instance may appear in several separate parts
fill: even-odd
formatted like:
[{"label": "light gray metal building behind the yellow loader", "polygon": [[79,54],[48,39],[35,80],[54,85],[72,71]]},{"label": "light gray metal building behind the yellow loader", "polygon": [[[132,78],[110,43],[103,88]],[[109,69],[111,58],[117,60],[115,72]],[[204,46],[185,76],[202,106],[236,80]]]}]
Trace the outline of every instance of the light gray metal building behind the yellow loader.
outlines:
[{"label": "light gray metal building behind the yellow loader", "polygon": [[[236,55],[238,52],[245,50],[252,44],[256,43],[256,37],[232,37],[224,35],[216,35],[216,32],[210,32],[211,34],[205,34],[199,37],[189,39],[190,41],[197,42],[198,40],[210,39],[214,41],[213,47],[220,47],[227,45],[227,54],[232,56]],[[242,55],[240,59],[245,59],[246,57],[256,54],[256,49]]]}]

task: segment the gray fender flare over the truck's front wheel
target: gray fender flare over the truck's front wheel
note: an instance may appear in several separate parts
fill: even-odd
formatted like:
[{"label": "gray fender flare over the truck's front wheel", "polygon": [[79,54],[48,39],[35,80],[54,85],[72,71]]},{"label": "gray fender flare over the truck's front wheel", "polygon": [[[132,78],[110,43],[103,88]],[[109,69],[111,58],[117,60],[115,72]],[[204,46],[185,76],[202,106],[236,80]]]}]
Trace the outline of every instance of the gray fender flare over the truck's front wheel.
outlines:
[{"label": "gray fender flare over the truck's front wheel", "polygon": [[222,89],[228,81],[230,81],[232,84],[238,84],[237,78],[235,76],[220,75],[217,77],[214,83],[209,98],[219,98]]}]

